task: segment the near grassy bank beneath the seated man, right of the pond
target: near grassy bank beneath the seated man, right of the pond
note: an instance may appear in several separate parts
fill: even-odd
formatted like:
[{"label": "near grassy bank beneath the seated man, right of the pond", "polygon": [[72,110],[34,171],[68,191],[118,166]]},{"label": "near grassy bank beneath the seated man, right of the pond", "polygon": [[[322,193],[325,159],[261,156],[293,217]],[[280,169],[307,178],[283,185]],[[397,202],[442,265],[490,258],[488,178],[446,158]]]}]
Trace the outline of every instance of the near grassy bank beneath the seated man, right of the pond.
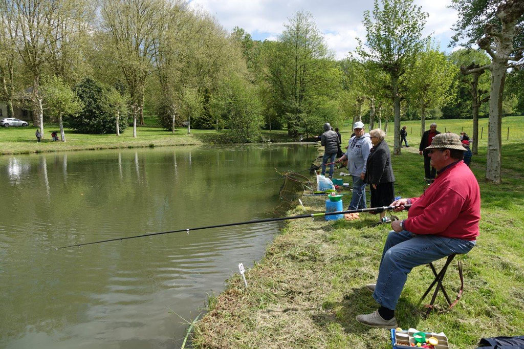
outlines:
[{"label": "near grassy bank beneath the seated man, right of the pond", "polygon": [[[463,298],[451,311],[432,313],[424,320],[424,309],[417,303],[432,273],[421,266],[409,275],[397,308],[402,328],[443,331],[453,348],[475,348],[481,337],[524,332],[524,145],[515,139],[503,144],[500,186],[483,180],[485,144],[472,160],[481,185],[482,220],[477,247],[461,257]],[[423,160],[418,147],[402,150],[393,158],[397,195],[418,196],[424,186]],[[320,212],[323,200],[304,197],[306,208],[289,214]],[[235,275],[226,290],[210,300],[208,314],[196,324],[193,346],[390,348],[387,330],[355,320],[357,314],[377,308],[364,285],[376,280],[389,225],[374,226],[376,221],[377,216],[370,214],[351,222],[289,221],[265,257],[246,272],[249,287],[245,289]],[[456,264],[447,272],[444,286],[454,298],[451,293],[460,286]],[[443,305],[440,297],[438,303]]]}]

